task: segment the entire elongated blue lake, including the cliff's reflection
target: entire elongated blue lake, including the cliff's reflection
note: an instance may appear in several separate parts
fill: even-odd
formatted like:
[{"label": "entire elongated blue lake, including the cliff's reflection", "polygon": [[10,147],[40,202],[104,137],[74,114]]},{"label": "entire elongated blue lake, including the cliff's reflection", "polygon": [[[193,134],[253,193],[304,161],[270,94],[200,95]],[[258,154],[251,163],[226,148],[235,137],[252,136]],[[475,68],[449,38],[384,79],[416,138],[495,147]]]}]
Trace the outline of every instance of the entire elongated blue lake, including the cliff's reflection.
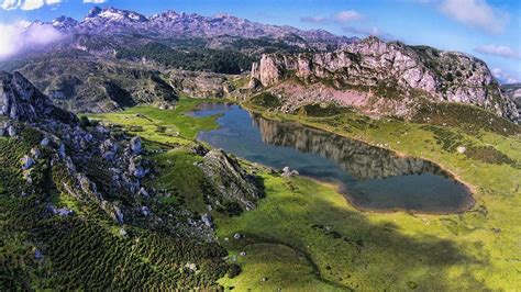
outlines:
[{"label": "entire elongated blue lake, including the cliff's reflection", "polygon": [[236,104],[203,103],[192,116],[221,114],[198,139],[237,157],[334,182],[356,207],[377,212],[459,213],[474,200],[439,166],[325,131],[260,117]]}]

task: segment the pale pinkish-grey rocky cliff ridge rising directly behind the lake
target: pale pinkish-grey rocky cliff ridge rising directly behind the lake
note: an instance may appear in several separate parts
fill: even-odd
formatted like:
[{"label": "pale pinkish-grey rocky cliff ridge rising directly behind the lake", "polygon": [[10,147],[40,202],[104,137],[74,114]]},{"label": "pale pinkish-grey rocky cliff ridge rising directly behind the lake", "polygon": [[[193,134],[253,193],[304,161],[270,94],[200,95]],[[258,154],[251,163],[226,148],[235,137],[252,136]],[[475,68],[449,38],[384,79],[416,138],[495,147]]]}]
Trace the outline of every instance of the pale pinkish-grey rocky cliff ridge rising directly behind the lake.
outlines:
[{"label": "pale pinkish-grey rocky cliff ridge rising directly behind the lake", "polygon": [[477,105],[511,120],[518,116],[484,61],[376,37],[331,53],[263,55],[251,77],[251,87],[270,88],[285,111],[332,101],[373,115],[409,116],[423,97]]}]

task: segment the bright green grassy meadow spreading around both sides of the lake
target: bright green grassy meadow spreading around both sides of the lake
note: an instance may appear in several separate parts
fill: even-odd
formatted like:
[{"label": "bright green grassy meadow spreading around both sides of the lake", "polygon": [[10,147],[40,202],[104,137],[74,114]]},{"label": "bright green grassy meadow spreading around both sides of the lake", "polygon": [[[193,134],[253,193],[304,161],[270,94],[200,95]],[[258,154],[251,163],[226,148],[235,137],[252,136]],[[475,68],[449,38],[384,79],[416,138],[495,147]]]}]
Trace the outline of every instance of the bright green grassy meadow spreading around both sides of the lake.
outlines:
[{"label": "bright green grassy meadow spreading around both sides of the lake", "polygon": [[[182,146],[191,143],[199,130],[217,126],[214,117],[182,115],[197,102],[181,100],[173,111],[133,108],[95,119],[120,123],[125,131],[137,124],[145,131],[135,134]],[[147,119],[125,119],[136,113]],[[455,215],[361,212],[333,186],[306,178],[281,178],[259,168],[266,199],[258,207],[237,217],[215,216],[218,236],[230,252],[229,260],[242,267],[237,277],[220,280],[224,288],[235,291],[521,289],[519,134],[469,133],[457,126],[375,121],[352,112],[333,117],[265,115],[298,121],[433,160],[473,188],[476,205]],[[179,135],[165,137],[156,132],[158,125]],[[457,153],[458,146],[467,147],[468,153]],[[182,164],[195,159],[179,153],[165,155],[176,156],[170,159],[180,159]],[[187,181],[176,173],[179,171],[166,173],[170,177],[159,178],[160,183],[173,187]],[[186,200],[199,200],[190,199],[189,193]],[[192,207],[198,209],[197,201]],[[244,236],[234,239],[235,233]]]}]

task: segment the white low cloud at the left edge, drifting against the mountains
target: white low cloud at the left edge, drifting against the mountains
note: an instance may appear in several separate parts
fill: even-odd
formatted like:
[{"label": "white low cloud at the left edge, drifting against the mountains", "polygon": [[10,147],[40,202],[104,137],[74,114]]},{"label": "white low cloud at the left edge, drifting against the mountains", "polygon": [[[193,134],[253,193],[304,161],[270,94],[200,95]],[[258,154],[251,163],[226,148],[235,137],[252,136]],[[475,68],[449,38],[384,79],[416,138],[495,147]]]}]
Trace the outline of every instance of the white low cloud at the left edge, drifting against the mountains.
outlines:
[{"label": "white low cloud at the left edge, drifting against the mountains", "polygon": [[0,59],[34,49],[65,37],[49,24],[20,21],[14,24],[0,23]]}]

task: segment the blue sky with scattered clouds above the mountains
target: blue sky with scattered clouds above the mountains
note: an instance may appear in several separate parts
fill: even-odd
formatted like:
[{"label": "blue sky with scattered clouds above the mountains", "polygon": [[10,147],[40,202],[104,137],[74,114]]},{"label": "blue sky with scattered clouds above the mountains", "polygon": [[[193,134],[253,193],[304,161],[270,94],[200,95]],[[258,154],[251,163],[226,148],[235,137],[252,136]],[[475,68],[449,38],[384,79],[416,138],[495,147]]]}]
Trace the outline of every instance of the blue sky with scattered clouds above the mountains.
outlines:
[{"label": "blue sky with scattered clouds above the mountains", "polygon": [[[90,3],[84,3],[90,2]],[[102,2],[102,3],[91,3]],[[225,12],[252,21],[324,29],[335,34],[399,40],[459,50],[487,61],[503,81],[521,81],[521,0],[0,0],[0,23],[81,20],[93,5],[213,15]],[[1,42],[0,42],[1,44]]]}]

